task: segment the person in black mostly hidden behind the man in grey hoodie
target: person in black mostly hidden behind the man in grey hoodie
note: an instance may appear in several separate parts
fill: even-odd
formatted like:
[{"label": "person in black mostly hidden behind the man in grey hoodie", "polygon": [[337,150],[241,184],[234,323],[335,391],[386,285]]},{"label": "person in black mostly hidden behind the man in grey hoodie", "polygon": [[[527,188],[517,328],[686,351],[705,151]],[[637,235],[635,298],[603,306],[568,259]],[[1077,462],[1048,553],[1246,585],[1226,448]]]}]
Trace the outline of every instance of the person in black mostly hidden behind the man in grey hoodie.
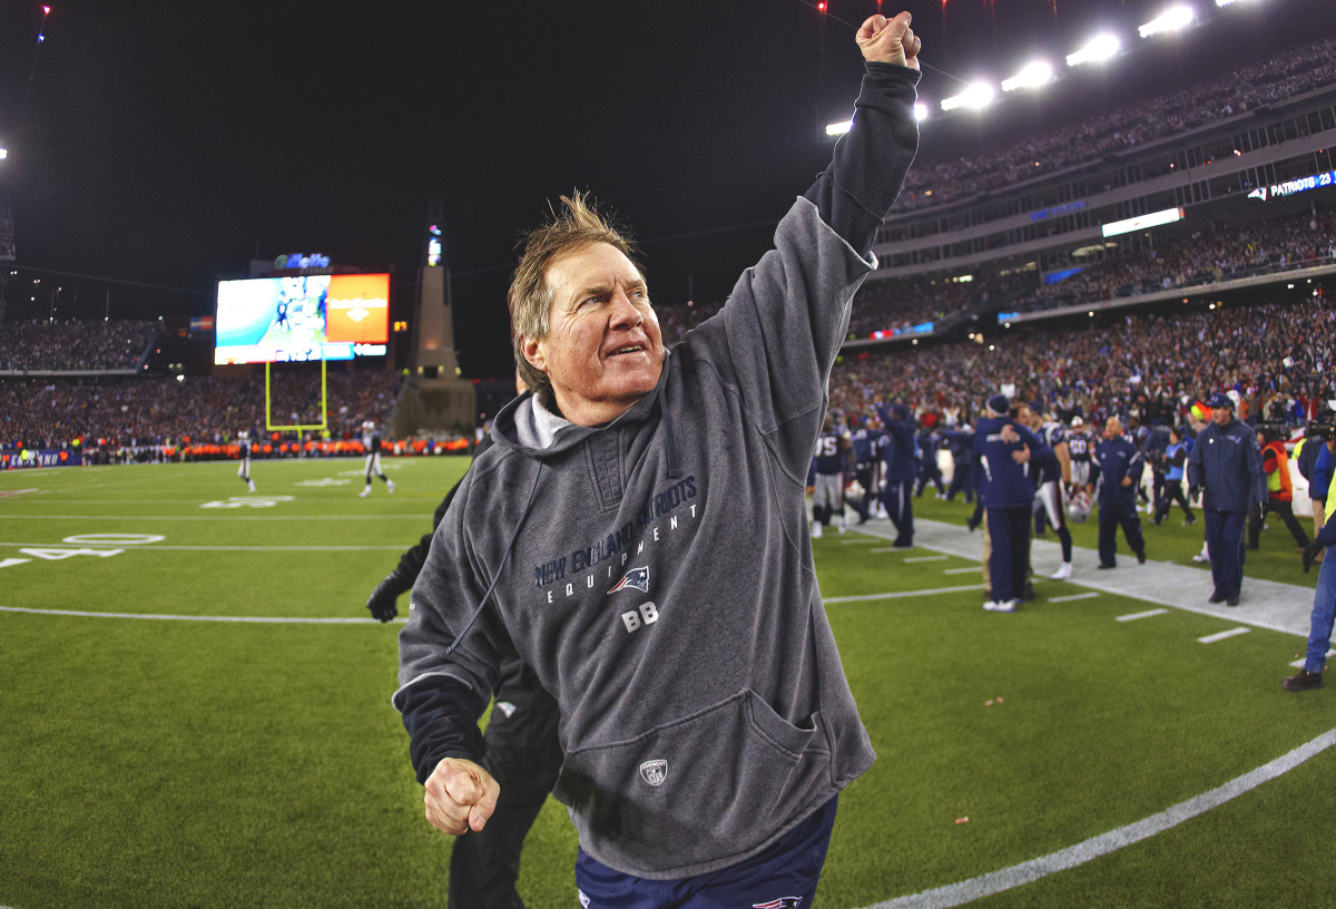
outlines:
[{"label": "person in black mostly hidden behind the man in grey hoodie", "polygon": [[[520,392],[524,392],[522,382]],[[490,436],[484,436],[473,457],[480,457],[490,445]],[[457,483],[437,507],[432,516],[433,533],[458,489]],[[394,571],[371,591],[366,608],[381,622],[398,615],[397,600],[413,588],[421,573],[433,533],[405,552]],[[482,735],[482,766],[501,786],[501,794],[488,826],[457,839],[450,852],[450,909],[524,908],[514,888],[520,880],[520,853],[561,770],[557,703],[538,684],[533,670],[513,654],[501,664],[494,700],[492,719]]]}]

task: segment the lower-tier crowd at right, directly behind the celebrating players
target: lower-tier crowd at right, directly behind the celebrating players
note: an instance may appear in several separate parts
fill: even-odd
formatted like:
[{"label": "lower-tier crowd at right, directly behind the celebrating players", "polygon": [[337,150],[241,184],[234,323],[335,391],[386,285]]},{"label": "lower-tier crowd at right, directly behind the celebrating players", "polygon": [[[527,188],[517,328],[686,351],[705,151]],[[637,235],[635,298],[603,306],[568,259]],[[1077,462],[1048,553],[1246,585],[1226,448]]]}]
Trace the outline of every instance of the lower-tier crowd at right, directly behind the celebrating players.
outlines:
[{"label": "lower-tier crowd at right, directly behind the celebrating players", "polygon": [[1252,306],[1129,315],[1074,330],[1017,328],[987,344],[962,341],[846,356],[831,376],[831,408],[908,404],[943,425],[973,421],[1003,385],[1065,420],[1110,416],[1176,422],[1212,392],[1234,392],[1240,416],[1300,424],[1332,397],[1336,311],[1324,297]]}]

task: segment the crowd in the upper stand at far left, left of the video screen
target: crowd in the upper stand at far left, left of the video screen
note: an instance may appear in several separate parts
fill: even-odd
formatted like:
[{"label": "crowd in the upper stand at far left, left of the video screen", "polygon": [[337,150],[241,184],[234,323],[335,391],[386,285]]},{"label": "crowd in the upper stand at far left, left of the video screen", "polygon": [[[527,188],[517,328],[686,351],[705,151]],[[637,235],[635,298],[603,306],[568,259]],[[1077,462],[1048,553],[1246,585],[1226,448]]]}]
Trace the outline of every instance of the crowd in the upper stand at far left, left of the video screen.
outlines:
[{"label": "crowd in the upper stand at far left, left of the video screen", "polygon": [[155,321],[31,321],[0,325],[0,372],[138,369]]}]

